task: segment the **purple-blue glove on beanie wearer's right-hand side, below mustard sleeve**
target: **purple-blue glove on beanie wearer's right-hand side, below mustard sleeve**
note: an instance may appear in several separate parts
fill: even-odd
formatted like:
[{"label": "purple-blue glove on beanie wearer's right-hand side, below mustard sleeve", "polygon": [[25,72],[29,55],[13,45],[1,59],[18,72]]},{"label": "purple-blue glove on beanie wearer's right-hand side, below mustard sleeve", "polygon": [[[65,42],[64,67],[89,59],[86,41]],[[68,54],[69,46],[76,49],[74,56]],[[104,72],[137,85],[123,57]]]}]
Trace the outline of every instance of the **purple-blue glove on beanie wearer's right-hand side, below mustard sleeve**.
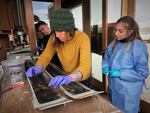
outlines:
[{"label": "purple-blue glove on beanie wearer's right-hand side, below mustard sleeve", "polygon": [[48,86],[57,88],[60,85],[67,85],[72,82],[71,76],[58,75],[51,79]]}]

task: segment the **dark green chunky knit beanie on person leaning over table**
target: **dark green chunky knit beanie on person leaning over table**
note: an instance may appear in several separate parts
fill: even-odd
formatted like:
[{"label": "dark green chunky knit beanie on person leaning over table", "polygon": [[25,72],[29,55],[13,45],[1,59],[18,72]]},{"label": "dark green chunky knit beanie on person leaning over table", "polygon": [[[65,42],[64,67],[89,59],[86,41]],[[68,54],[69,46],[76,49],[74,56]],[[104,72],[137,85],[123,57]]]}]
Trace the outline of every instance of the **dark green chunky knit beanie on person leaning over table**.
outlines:
[{"label": "dark green chunky knit beanie on person leaning over table", "polygon": [[73,14],[68,9],[53,9],[50,26],[55,31],[69,31],[75,28]]}]

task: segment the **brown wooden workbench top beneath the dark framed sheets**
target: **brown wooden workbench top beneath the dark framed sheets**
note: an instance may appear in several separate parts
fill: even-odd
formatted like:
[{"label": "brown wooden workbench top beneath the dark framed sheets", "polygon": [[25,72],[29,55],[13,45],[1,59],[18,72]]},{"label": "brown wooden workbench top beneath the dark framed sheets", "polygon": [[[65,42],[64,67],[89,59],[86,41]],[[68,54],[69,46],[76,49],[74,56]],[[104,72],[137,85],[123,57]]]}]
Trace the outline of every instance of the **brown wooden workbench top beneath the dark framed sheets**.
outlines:
[{"label": "brown wooden workbench top beneath the dark framed sheets", "polygon": [[121,113],[108,100],[102,96],[92,96],[81,100],[38,110],[33,107],[32,93],[29,85],[25,82],[25,87],[12,89],[2,95],[2,113]]}]

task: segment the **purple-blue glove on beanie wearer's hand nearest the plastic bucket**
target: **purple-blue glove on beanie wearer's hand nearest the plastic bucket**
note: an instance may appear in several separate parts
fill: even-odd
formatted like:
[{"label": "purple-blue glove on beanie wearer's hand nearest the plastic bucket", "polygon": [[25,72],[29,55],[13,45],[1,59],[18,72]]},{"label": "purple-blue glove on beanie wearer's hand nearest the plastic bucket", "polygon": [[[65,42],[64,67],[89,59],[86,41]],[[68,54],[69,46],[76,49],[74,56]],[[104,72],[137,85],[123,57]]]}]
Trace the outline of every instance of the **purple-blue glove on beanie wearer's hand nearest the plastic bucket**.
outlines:
[{"label": "purple-blue glove on beanie wearer's hand nearest the plastic bucket", "polygon": [[27,70],[26,75],[28,77],[33,77],[34,75],[41,74],[42,70],[43,70],[42,66],[32,66]]}]

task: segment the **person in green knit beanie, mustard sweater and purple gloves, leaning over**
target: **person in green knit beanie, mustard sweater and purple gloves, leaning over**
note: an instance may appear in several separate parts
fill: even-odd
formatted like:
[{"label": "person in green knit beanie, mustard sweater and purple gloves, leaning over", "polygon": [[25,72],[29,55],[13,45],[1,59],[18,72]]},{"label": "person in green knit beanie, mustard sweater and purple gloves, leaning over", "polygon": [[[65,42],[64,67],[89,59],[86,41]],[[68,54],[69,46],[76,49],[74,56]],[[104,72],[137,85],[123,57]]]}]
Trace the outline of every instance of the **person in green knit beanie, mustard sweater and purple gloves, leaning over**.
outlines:
[{"label": "person in green knit beanie, mustard sweater and purple gloves, leaning over", "polygon": [[47,46],[36,65],[26,72],[28,77],[41,74],[57,53],[62,69],[67,75],[53,77],[48,86],[57,88],[74,81],[88,79],[91,69],[89,37],[75,28],[73,14],[68,9],[53,9],[49,15],[53,31]]}]

